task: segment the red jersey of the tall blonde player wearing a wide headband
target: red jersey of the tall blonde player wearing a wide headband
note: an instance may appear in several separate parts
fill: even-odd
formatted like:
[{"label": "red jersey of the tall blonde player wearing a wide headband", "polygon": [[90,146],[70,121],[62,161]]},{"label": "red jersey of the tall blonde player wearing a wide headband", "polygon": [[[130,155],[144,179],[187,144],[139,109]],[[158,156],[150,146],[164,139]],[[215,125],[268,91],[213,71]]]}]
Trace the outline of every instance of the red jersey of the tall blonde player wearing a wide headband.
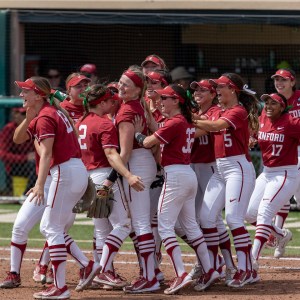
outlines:
[{"label": "red jersey of the tall blonde player wearing a wide headband", "polygon": [[[146,117],[144,108],[139,99],[123,102],[115,119],[115,124],[118,127],[121,122],[133,123],[135,116],[140,116],[143,119],[143,123],[146,123]],[[142,134],[147,135],[148,128],[144,126]],[[133,149],[142,148],[134,138]]]}]

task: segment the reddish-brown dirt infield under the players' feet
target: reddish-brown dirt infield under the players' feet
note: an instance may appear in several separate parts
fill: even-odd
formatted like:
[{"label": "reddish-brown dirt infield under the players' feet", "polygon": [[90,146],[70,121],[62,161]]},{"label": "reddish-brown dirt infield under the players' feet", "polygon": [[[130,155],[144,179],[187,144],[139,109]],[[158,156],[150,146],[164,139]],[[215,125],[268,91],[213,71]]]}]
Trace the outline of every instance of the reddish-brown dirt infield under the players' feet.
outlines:
[{"label": "reddish-brown dirt infield under the players' feet", "polygon": [[[1,258],[1,280],[6,276],[5,271],[9,270],[9,251],[8,249],[0,250]],[[90,255],[89,255],[90,256]],[[22,285],[12,290],[0,289],[0,298],[5,300],[16,299],[33,299],[34,292],[40,291],[42,286],[32,280],[32,272],[37,262],[38,252],[28,251],[25,253],[24,262],[21,270]],[[186,270],[191,269],[194,258],[191,256],[184,257],[187,264]],[[135,256],[132,254],[118,254],[116,257],[115,267],[118,273],[132,280],[138,275],[138,268]],[[166,256],[163,259],[161,267],[165,274],[166,282],[174,276],[173,268]],[[224,282],[218,282],[205,292],[194,292],[192,287],[185,288],[178,295],[164,295],[162,286],[161,291],[152,294],[143,295],[125,295],[122,291],[104,291],[104,290],[86,290],[81,293],[74,291],[78,282],[78,267],[73,262],[67,263],[67,284],[71,291],[71,299],[300,299],[300,260],[299,259],[262,259],[259,271],[261,281],[253,285],[247,285],[242,289],[228,288]]]}]

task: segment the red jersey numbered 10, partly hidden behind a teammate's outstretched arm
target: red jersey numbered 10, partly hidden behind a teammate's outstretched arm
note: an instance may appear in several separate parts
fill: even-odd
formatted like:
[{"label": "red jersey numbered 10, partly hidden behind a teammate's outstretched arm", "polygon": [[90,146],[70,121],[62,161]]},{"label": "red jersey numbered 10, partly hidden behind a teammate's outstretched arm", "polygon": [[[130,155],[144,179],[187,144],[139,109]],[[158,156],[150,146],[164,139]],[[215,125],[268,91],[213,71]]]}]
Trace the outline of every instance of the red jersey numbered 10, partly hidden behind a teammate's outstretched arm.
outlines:
[{"label": "red jersey numbered 10, partly hidden behind a teammate's outstretched arm", "polygon": [[[205,113],[200,115],[205,116],[206,119],[210,119],[211,116],[219,110],[219,106],[213,105]],[[191,153],[191,163],[211,163],[215,160],[215,148],[211,135],[206,134],[195,138]]]}]

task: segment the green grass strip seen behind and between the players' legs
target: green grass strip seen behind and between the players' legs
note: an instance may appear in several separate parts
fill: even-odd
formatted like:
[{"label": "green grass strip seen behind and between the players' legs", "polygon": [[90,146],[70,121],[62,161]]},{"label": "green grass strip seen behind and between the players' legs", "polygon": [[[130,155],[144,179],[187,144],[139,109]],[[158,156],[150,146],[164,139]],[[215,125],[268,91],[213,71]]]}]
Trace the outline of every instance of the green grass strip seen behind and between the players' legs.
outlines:
[{"label": "green grass strip seen behind and between the players' legs", "polygon": [[[20,205],[18,204],[0,204],[0,246],[8,247],[10,244],[11,231],[13,227],[13,223],[2,223],[1,222],[1,214],[7,214],[11,212],[16,212],[20,209]],[[85,219],[83,219],[84,221]],[[290,212],[289,217],[286,223],[294,223],[300,222],[300,212]],[[251,239],[253,240],[255,231],[249,230],[251,235]],[[290,229],[293,233],[293,240],[289,242],[288,247],[286,249],[287,256],[300,256],[300,249],[298,248],[290,248],[290,247],[300,247],[300,230],[298,228]],[[78,245],[85,250],[92,249],[92,240],[93,240],[93,226],[92,225],[80,225],[75,224],[71,227],[69,231],[70,235],[74,240],[78,243]],[[130,239],[126,240],[130,242]],[[184,244],[183,241],[180,240]],[[34,226],[32,231],[29,234],[28,247],[30,248],[42,248],[44,244],[44,237],[39,231],[39,224]],[[133,251],[132,243],[123,244],[122,250],[131,250]],[[182,245],[181,249],[183,252],[192,252],[190,247],[187,245]],[[265,249],[263,251],[263,255],[273,255],[274,250]]]}]

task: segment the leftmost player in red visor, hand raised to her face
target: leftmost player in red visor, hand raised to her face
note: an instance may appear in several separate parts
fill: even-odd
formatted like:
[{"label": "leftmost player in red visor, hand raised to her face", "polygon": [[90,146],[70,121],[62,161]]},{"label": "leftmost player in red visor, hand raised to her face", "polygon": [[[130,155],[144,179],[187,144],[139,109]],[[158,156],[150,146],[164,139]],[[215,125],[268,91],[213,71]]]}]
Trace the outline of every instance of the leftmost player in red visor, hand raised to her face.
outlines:
[{"label": "leftmost player in red visor, hand raised to her face", "polygon": [[[72,218],[72,208],[86,189],[87,172],[80,159],[80,148],[71,121],[57,105],[51,106],[47,101],[51,92],[48,80],[32,77],[16,84],[22,89],[20,95],[27,112],[26,119],[15,131],[14,141],[23,143],[35,137],[39,143],[38,179],[29,191],[31,200],[36,204],[44,202],[44,185],[49,171],[52,178],[40,230],[49,245],[54,285],[33,296],[36,299],[68,299],[64,231]],[[100,266],[89,261],[83,253],[81,257],[85,260],[80,270],[83,289],[99,272]]]}]

